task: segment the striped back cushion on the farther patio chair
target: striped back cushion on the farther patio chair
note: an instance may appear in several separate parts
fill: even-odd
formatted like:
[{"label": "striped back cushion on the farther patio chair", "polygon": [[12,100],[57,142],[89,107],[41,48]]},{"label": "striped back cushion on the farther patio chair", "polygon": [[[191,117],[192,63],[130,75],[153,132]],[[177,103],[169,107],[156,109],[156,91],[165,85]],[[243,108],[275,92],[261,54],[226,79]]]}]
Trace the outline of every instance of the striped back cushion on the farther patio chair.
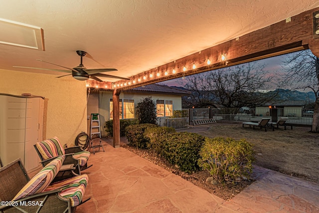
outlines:
[{"label": "striped back cushion on the farther patio chair", "polygon": [[42,156],[43,160],[65,154],[65,150],[62,148],[61,143],[57,137],[36,143],[36,148]]}]

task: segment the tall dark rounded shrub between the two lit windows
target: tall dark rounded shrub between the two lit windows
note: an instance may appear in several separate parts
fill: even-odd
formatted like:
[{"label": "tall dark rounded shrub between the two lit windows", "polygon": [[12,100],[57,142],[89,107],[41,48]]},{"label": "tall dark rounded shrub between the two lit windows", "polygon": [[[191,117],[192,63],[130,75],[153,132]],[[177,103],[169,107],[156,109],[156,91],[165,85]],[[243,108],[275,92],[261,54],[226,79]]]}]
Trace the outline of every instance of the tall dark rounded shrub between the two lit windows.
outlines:
[{"label": "tall dark rounded shrub between the two lit windows", "polygon": [[156,124],[156,104],[152,97],[144,98],[138,103],[136,116],[140,124]]}]

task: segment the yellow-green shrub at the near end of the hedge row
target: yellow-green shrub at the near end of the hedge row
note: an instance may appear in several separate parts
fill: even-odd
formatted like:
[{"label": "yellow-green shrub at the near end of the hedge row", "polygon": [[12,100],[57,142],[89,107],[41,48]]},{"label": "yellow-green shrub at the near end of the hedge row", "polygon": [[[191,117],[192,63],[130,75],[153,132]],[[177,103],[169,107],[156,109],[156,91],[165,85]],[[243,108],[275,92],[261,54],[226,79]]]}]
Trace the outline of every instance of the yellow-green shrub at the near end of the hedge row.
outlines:
[{"label": "yellow-green shrub at the near end of the hedge row", "polygon": [[220,183],[239,182],[252,173],[254,151],[245,139],[206,138],[200,150],[199,166]]}]

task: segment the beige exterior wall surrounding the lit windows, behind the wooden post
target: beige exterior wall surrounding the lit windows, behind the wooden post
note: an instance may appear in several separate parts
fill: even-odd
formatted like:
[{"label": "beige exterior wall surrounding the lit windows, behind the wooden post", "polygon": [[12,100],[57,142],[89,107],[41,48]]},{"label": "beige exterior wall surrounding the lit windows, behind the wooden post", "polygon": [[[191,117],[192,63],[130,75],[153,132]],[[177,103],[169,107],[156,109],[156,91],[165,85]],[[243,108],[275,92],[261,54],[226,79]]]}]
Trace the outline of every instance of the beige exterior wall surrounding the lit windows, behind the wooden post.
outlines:
[{"label": "beige exterior wall surrounding the lit windows, behind the wooden post", "polygon": [[[134,107],[136,112],[137,104],[146,97],[152,96],[152,99],[156,100],[172,100],[173,101],[173,110],[181,109],[181,96],[180,95],[169,95],[169,94],[149,94],[149,93],[125,93],[122,91],[120,94],[120,99],[134,99]],[[96,98],[96,97],[94,97]],[[110,120],[110,99],[113,98],[113,93],[110,91],[100,91],[99,92],[99,114],[101,122],[101,133],[105,135],[105,122]],[[93,99],[92,99],[93,100]],[[89,102],[91,99],[89,98]],[[90,103],[91,105],[91,103]],[[89,110],[88,110],[89,114]],[[89,128],[89,127],[88,127]]]}]

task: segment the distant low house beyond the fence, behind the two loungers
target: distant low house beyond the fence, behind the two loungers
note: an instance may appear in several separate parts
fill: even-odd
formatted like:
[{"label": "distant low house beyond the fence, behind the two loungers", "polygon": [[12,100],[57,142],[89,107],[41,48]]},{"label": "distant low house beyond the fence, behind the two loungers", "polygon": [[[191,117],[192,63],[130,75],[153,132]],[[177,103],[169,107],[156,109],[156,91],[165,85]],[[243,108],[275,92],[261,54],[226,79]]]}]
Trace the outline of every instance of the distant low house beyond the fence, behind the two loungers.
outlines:
[{"label": "distant low house beyond the fence, behind the two loungers", "polygon": [[283,101],[278,103],[266,103],[263,106],[256,106],[255,115],[259,116],[269,116],[270,108],[269,106],[278,109],[278,116],[285,117],[302,117],[303,108],[305,107],[305,101]]}]

